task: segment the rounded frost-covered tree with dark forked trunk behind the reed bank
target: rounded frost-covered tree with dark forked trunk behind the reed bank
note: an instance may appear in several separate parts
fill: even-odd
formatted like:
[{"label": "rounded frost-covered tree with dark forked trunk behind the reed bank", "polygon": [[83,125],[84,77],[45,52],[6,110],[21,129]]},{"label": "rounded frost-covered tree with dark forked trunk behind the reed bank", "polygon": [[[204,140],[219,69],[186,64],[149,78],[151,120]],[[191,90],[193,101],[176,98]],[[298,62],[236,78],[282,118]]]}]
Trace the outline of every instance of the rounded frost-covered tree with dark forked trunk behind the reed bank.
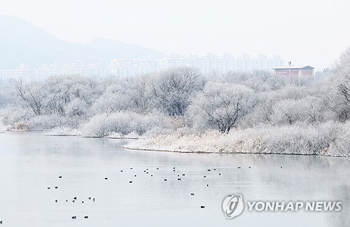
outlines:
[{"label": "rounded frost-covered tree with dark forked trunk behind the reed bank", "polygon": [[190,116],[197,128],[230,132],[254,104],[253,90],[244,85],[209,82],[193,98]]}]

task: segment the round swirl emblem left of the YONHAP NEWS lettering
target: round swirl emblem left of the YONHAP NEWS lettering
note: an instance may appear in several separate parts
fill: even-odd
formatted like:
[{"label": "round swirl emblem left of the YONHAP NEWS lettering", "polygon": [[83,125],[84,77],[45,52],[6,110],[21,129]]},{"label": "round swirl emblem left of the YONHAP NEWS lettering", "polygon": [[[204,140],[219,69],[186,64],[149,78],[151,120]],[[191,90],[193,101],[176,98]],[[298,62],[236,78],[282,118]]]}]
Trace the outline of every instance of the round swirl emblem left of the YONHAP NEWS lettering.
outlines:
[{"label": "round swirl emblem left of the YONHAP NEWS lettering", "polygon": [[228,219],[233,219],[235,216],[238,216],[243,212],[243,209],[243,197],[239,194],[228,195],[228,197],[223,200],[223,212]]}]

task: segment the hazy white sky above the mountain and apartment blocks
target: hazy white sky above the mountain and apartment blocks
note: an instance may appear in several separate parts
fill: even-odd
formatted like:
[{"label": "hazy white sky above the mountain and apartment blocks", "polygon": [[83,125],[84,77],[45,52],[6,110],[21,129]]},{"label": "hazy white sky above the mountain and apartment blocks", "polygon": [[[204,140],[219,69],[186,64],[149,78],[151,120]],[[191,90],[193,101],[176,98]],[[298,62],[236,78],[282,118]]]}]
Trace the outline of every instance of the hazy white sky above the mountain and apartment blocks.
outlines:
[{"label": "hazy white sky above the mountain and apartment blocks", "polygon": [[328,67],[350,46],[349,0],[0,0],[66,41],[94,37],[163,53],[276,54]]}]

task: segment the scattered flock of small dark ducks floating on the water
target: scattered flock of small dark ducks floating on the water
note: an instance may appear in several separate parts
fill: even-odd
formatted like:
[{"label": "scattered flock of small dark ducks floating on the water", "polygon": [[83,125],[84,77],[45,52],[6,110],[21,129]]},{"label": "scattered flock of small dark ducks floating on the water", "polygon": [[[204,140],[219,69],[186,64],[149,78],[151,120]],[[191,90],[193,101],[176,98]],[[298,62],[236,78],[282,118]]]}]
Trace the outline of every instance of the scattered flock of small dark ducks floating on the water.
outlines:
[{"label": "scattered flock of small dark ducks floating on the water", "polygon": [[[238,169],[241,169],[242,167],[241,167],[241,166],[238,166],[237,168],[238,168]],[[248,166],[248,168],[251,169],[251,166]],[[282,166],[281,166],[281,168],[282,168]],[[133,170],[133,168],[130,167],[130,170]],[[157,167],[157,168],[155,168],[155,170],[160,170],[160,168]],[[151,170],[149,170],[148,168],[146,168],[146,170],[144,170],[144,172],[145,172],[146,174],[149,174],[150,171],[151,171]],[[175,171],[176,171],[176,167],[173,167],[173,168],[172,168],[172,171],[175,172]],[[208,171],[208,172],[216,171],[216,168],[207,169],[207,171]],[[123,170],[120,170],[120,172],[123,172]],[[150,175],[151,175],[151,177],[153,177],[153,174],[150,174]],[[221,176],[221,172],[218,172],[218,175]],[[185,176],[186,176],[185,173],[177,174],[177,180],[178,180],[178,181],[181,181],[181,178],[182,178],[182,177],[185,177]],[[134,174],[134,177],[137,177],[137,174]],[[206,178],[207,175],[203,175],[203,177]],[[62,176],[59,176],[58,178],[59,178],[59,179],[62,179]],[[109,178],[108,178],[108,177],[104,177],[104,179],[105,179],[105,180],[108,180]],[[164,178],[164,181],[167,181],[167,180],[168,180],[167,178]],[[129,183],[132,184],[132,180],[130,180]],[[207,187],[209,187],[209,184],[207,184]],[[48,190],[50,190],[50,189],[51,189],[51,187],[49,186],[49,187],[48,187]],[[55,186],[55,189],[58,189],[58,186]],[[190,193],[190,195],[191,195],[191,196],[194,196],[195,193]],[[90,200],[90,201],[92,201],[92,202],[95,202],[95,198],[88,197],[87,200]],[[78,200],[77,200],[77,197],[74,197],[73,200],[71,200],[71,202],[77,202],[77,201],[78,201]],[[55,200],[55,202],[58,202],[58,200]],[[66,199],[66,202],[69,202],[69,200]],[[81,203],[84,203],[84,200],[81,200]],[[200,208],[204,209],[205,206],[204,206],[204,205],[201,205]],[[89,216],[86,215],[86,216],[83,216],[83,218],[84,218],[84,219],[88,219]],[[75,215],[74,215],[74,216],[71,216],[71,219],[77,219],[77,216],[75,216]],[[2,224],[2,221],[0,221],[0,224]]]}]

